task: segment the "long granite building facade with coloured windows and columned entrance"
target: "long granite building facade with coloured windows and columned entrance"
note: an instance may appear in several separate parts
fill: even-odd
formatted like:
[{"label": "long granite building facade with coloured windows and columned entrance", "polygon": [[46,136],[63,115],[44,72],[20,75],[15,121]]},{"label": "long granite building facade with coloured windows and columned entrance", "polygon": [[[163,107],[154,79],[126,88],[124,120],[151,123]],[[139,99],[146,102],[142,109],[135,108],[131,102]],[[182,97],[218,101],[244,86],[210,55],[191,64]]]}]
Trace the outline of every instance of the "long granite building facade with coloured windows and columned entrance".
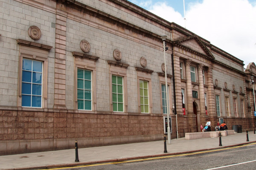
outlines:
[{"label": "long granite building facade with coloured windows and columned entrance", "polygon": [[253,129],[255,63],[129,1],[0,0],[0,16],[0,155],[162,140],[167,98],[172,139]]}]

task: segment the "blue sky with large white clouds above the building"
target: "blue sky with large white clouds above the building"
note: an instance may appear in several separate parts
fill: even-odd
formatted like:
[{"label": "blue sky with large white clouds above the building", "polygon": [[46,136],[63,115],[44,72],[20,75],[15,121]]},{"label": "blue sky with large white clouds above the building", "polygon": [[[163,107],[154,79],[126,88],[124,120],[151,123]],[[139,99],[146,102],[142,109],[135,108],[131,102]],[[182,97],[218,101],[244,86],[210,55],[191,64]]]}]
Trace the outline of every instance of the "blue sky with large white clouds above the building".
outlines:
[{"label": "blue sky with large white clouds above the building", "polygon": [[256,0],[129,0],[244,61],[256,63]]}]

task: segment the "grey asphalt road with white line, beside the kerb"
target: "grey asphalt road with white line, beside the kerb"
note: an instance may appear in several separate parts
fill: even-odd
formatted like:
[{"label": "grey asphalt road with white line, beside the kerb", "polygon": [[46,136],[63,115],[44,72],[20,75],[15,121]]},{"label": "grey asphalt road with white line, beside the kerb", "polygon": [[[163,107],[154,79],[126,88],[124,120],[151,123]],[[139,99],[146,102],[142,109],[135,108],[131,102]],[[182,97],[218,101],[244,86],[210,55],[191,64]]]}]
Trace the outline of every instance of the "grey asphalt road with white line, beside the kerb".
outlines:
[{"label": "grey asphalt road with white line, beside the kerb", "polygon": [[[256,170],[256,145],[67,170]],[[56,169],[55,169],[56,170]]]}]

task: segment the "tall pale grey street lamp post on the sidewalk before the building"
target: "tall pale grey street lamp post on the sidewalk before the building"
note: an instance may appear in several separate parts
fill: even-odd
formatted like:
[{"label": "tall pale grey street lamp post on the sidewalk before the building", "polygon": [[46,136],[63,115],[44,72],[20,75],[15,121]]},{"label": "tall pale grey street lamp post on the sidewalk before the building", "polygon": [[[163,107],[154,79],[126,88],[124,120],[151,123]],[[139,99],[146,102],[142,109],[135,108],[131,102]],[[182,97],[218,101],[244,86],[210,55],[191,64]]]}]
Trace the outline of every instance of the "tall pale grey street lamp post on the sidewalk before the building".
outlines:
[{"label": "tall pale grey street lamp post on the sidewalk before the building", "polygon": [[169,96],[167,94],[167,71],[166,71],[166,57],[165,57],[165,51],[166,51],[166,38],[167,36],[161,36],[162,40],[163,40],[163,58],[164,58],[164,72],[165,72],[165,80],[166,80],[166,91],[165,91],[165,95],[166,95],[166,106],[167,106],[167,139],[168,139],[168,144],[171,144],[171,128],[170,128],[170,120],[169,120]]}]

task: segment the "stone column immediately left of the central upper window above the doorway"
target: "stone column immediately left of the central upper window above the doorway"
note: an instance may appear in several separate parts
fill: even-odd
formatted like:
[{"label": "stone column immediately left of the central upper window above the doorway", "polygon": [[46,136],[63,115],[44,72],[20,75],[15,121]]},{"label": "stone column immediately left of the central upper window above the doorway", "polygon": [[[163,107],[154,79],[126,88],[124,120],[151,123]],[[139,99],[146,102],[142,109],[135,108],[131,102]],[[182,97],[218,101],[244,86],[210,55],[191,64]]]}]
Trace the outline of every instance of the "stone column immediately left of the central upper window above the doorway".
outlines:
[{"label": "stone column immediately left of the central upper window above the doorway", "polygon": [[192,84],[191,84],[191,74],[190,74],[190,65],[191,60],[187,59],[185,62],[186,65],[186,99],[187,99],[187,109],[188,115],[193,114],[193,101],[192,101]]}]

